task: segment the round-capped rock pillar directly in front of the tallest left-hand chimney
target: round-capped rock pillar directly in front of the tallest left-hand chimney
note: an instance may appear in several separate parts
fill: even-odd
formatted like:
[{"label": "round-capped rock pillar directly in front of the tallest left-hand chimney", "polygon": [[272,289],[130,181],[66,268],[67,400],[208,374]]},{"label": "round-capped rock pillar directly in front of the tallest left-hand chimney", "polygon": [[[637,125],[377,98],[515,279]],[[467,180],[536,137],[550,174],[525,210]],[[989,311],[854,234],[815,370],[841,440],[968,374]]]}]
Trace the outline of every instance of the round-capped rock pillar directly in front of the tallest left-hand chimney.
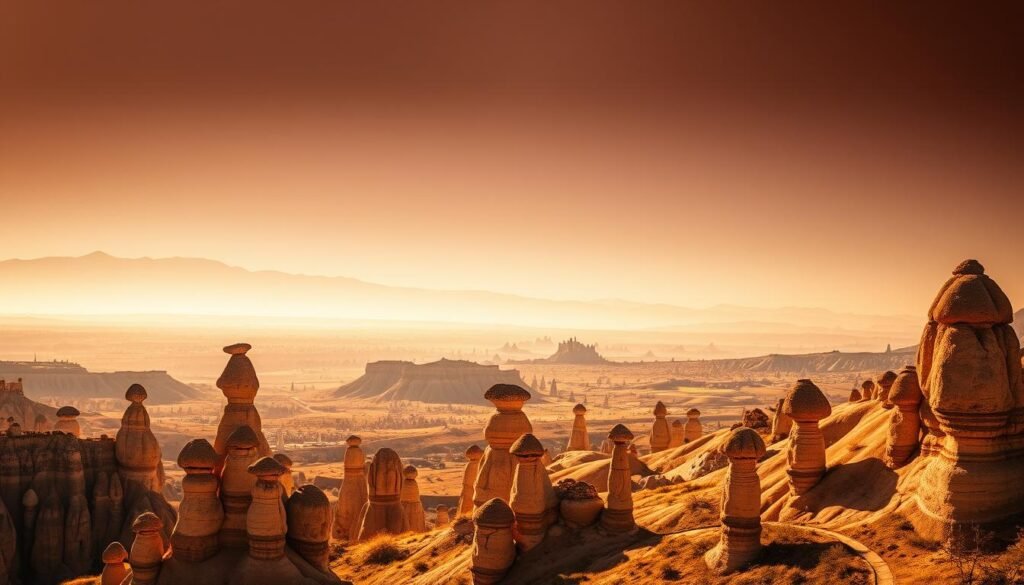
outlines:
[{"label": "round-capped rock pillar directly in front of the tallest left-hand chimney", "polygon": [[220,545],[246,548],[246,513],[253,499],[256,476],[249,466],[259,459],[259,438],[248,425],[234,429],[227,437],[227,456],[220,472],[220,501],[224,506],[224,521],[220,527]]}]

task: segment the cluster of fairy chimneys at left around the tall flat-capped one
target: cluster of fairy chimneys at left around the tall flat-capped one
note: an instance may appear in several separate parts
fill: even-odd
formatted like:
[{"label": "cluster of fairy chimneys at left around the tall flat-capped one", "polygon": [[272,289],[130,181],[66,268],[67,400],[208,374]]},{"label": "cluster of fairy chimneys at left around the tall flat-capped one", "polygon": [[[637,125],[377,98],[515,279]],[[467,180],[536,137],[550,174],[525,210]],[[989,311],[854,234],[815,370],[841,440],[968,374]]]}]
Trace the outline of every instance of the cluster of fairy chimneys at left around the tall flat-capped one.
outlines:
[{"label": "cluster of fairy chimneys at left around the tall flat-capped one", "polygon": [[[200,573],[209,582],[239,584],[340,582],[328,568],[331,503],[315,486],[294,487],[287,455],[270,456],[253,405],[259,379],[246,356],[250,348],[246,343],[224,348],[230,358],[217,386],[227,405],[215,442],[194,440],[178,455],[185,475],[170,548],[163,520],[141,513],[132,524],[127,556],[118,543],[103,552],[101,583],[174,585]],[[129,429],[147,426],[148,415],[126,413],[123,428],[126,421]],[[155,440],[153,446],[137,446],[153,449],[159,452]]]}]

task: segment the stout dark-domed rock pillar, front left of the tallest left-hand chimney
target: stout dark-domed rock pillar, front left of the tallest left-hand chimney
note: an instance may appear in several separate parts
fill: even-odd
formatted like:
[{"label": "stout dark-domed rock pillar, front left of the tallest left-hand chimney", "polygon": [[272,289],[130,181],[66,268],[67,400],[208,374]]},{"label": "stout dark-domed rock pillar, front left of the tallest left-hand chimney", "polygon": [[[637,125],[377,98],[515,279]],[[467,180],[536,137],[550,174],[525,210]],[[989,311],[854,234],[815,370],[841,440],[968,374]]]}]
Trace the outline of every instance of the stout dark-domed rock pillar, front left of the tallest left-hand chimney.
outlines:
[{"label": "stout dark-domed rock pillar, front left of the tallest left-hand chimney", "polygon": [[205,438],[194,438],[178,454],[178,467],[185,471],[181,479],[181,503],[178,521],[171,533],[171,547],[179,560],[199,562],[219,550],[218,533],[224,521],[224,508],[217,497],[220,482],[213,474],[217,452]]}]

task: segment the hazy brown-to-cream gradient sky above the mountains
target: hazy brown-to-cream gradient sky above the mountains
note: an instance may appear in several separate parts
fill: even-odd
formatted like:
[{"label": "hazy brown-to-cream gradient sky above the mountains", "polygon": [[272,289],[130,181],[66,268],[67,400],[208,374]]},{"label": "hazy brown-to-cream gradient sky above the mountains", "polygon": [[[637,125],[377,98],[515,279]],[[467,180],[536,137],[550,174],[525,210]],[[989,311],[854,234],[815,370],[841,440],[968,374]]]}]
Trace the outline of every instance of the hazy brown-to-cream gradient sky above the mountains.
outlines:
[{"label": "hazy brown-to-cream gradient sky above the mountains", "polygon": [[1024,4],[368,4],[0,3],[0,257],[914,315],[978,257],[1024,298]]}]

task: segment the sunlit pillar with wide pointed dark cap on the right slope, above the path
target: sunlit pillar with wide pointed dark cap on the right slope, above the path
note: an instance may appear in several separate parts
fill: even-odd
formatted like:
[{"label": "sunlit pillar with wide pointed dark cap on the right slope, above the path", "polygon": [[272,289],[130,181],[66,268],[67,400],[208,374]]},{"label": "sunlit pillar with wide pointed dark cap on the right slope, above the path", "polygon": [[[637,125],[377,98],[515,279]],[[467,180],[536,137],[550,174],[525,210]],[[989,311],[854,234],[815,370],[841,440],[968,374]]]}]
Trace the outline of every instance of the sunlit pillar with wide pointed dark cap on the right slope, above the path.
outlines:
[{"label": "sunlit pillar with wide pointed dark cap on the right slope, above the path", "polygon": [[831,414],[831,405],[810,380],[798,380],[785,396],[782,412],[796,422],[790,437],[790,488],[801,496],[825,473],[825,440],[818,421]]}]

